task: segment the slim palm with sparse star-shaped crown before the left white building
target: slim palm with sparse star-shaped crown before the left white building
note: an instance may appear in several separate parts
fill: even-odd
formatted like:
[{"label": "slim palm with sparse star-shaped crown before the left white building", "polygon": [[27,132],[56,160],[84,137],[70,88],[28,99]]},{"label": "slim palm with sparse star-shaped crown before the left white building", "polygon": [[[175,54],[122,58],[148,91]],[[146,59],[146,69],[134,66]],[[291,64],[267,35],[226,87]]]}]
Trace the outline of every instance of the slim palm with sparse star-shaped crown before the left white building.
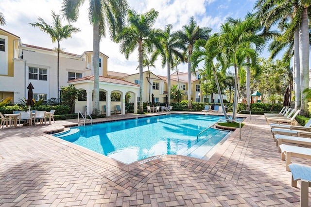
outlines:
[{"label": "slim palm with sparse star-shaped crown before the left white building", "polygon": [[71,24],[62,26],[59,15],[52,11],[53,25],[47,24],[42,18],[38,17],[38,22],[30,23],[33,27],[38,27],[42,32],[51,36],[52,43],[57,42],[57,100],[59,101],[59,53],[61,52],[60,41],[71,37],[72,33],[80,32],[79,28]]}]

